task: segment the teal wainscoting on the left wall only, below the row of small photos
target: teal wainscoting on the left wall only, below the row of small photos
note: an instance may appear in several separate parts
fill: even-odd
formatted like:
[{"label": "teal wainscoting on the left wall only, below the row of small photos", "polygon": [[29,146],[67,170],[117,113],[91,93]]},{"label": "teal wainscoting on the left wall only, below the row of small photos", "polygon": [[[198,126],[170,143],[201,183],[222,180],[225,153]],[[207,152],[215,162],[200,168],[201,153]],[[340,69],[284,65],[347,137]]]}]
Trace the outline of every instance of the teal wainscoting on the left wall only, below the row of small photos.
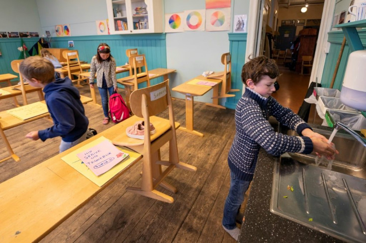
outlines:
[{"label": "teal wainscoting on the left wall only, below the row of small photos", "polygon": [[[22,38],[28,50],[32,48],[34,44],[37,43],[39,40],[38,37],[32,38]],[[8,39],[0,39],[0,74],[4,73],[11,73],[14,75],[18,75],[17,73],[13,72],[10,66],[10,62],[13,60],[17,60],[20,56],[20,51],[18,47],[21,46],[21,39],[20,38],[8,38]],[[19,80],[14,79],[12,81]]]}]

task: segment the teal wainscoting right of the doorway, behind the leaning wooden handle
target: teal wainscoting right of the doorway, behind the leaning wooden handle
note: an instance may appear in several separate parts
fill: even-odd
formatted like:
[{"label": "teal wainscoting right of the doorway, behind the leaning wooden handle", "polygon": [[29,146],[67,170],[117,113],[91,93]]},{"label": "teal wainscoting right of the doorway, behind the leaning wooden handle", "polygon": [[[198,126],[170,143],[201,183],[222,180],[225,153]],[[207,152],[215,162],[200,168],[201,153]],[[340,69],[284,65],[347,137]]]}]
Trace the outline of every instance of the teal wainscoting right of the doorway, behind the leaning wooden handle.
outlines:
[{"label": "teal wainscoting right of the doorway, behind the leaning wooden handle", "polygon": [[[363,46],[366,46],[366,30],[360,30],[359,36]],[[341,50],[344,34],[342,31],[333,31],[328,33],[328,42],[331,43],[329,53],[325,59],[324,70],[322,75],[321,84],[322,87],[329,88],[332,82],[334,70],[336,68],[339,52]],[[339,64],[336,79],[334,81],[333,88],[341,90],[343,77],[346,71],[346,65],[348,57],[350,55],[350,48],[346,42],[345,49],[343,51],[342,59]]]}]

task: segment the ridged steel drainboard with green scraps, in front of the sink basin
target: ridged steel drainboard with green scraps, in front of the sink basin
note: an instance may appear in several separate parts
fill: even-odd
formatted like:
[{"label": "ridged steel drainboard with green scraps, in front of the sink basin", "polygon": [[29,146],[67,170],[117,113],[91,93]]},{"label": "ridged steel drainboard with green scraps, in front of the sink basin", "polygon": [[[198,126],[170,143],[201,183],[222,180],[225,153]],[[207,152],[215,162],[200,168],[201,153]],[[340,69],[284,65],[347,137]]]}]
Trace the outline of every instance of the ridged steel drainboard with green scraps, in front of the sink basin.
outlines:
[{"label": "ridged steel drainboard with green scraps, in front of the sink basin", "polygon": [[275,165],[271,211],[344,241],[366,242],[365,179],[282,155]]}]

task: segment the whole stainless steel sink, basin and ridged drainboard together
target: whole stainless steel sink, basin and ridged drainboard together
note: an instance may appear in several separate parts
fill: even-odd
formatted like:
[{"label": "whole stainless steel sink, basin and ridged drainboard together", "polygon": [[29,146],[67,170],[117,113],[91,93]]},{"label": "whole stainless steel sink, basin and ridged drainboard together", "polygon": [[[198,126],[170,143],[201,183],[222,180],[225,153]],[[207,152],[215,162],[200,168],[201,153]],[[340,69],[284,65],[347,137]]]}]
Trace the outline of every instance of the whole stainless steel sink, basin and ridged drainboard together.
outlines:
[{"label": "whole stainless steel sink, basin and ridged drainboard together", "polygon": [[[331,134],[330,129],[314,130],[326,137]],[[274,169],[271,211],[343,241],[365,243],[366,150],[342,132],[333,141],[340,154],[332,170],[316,167],[315,154],[280,157]]]}]

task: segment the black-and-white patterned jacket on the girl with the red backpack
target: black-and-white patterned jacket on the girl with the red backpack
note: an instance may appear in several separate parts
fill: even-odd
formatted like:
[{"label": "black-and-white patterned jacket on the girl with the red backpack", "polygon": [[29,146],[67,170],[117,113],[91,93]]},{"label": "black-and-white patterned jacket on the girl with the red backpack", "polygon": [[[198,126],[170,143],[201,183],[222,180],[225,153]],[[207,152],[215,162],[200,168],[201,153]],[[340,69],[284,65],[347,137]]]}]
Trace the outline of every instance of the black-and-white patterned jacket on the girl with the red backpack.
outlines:
[{"label": "black-and-white patterned jacket on the girl with the red backpack", "polygon": [[116,80],[116,61],[113,57],[110,57],[110,61],[102,61],[99,63],[96,60],[96,56],[91,59],[90,62],[90,77],[89,83],[94,83],[94,77],[96,73],[96,86],[101,88],[103,81],[103,72],[108,88],[113,86],[117,87]]}]

